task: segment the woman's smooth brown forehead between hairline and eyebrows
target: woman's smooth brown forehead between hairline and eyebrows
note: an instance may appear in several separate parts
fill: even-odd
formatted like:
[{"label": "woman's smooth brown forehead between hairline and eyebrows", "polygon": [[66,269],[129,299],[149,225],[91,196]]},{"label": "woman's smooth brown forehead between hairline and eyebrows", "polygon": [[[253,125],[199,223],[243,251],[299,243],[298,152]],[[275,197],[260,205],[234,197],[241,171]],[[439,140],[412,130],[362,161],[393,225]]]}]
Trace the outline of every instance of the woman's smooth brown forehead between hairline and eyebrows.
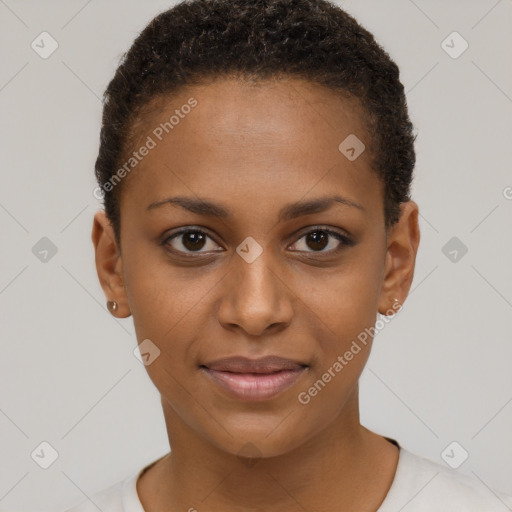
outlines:
[{"label": "woman's smooth brown forehead between hairline and eyebrows", "polygon": [[[359,101],[299,79],[187,86],[146,105],[134,135],[132,150],[148,137],[155,143],[127,187],[146,203],[176,188],[254,201],[268,198],[269,189],[297,200],[308,189],[336,187],[358,195],[358,202],[364,195],[375,202],[381,191]],[[339,145],[353,135],[366,149],[349,161]]]}]

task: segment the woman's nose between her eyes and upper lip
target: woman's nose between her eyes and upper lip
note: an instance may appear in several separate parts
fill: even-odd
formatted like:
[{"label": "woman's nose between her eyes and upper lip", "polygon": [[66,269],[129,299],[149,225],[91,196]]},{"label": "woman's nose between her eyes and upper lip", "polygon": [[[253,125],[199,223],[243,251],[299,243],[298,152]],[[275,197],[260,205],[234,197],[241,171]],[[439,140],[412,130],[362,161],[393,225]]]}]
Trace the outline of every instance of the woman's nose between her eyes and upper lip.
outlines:
[{"label": "woman's nose between her eyes and upper lip", "polygon": [[235,255],[231,265],[218,309],[221,325],[251,336],[286,328],[293,316],[294,294],[277,267],[270,268],[265,251],[252,263]]}]

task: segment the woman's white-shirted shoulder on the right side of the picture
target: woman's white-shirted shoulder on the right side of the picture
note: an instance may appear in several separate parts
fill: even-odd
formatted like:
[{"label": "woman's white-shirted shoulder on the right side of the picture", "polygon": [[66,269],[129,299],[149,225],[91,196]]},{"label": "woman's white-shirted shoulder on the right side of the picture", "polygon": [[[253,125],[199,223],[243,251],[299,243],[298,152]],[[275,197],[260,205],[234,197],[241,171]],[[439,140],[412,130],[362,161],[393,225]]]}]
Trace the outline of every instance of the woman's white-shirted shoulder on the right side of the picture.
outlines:
[{"label": "woman's white-shirted shoulder on the right side of the picture", "polygon": [[474,475],[437,464],[400,448],[393,484],[378,512],[504,512],[512,497]]}]

